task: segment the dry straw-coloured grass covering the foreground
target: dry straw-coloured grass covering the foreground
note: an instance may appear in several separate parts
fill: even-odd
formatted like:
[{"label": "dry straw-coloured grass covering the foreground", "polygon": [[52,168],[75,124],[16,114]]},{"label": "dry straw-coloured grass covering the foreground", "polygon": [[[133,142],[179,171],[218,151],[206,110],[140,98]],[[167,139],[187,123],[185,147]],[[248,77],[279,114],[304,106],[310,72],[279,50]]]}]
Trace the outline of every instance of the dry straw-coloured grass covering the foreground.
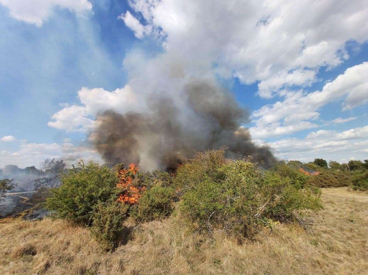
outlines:
[{"label": "dry straw-coloured grass covering the foreground", "polygon": [[308,231],[279,225],[238,244],[185,232],[174,218],[145,223],[113,253],[85,228],[0,220],[0,274],[368,274],[368,195],[324,189]]}]

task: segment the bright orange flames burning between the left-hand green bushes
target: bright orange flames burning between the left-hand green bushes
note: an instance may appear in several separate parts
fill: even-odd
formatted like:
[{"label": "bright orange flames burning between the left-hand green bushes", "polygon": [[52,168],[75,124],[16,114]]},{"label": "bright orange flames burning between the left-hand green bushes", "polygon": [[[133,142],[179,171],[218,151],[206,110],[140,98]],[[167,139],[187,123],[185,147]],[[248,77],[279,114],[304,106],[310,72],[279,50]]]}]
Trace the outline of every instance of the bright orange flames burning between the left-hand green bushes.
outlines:
[{"label": "bright orange flames burning between the left-hand green bushes", "polygon": [[139,198],[142,196],[141,193],[146,190],[146,187],[139,188],[132,184],[137,173],[138,167],[135,167],[134,163],[130,163],[127,169],[122,168],[117,172],[119,182],[116,184],[116,187],[125,190],[119,195],[117,201],[130,204],[135,204],[139,201]]}]

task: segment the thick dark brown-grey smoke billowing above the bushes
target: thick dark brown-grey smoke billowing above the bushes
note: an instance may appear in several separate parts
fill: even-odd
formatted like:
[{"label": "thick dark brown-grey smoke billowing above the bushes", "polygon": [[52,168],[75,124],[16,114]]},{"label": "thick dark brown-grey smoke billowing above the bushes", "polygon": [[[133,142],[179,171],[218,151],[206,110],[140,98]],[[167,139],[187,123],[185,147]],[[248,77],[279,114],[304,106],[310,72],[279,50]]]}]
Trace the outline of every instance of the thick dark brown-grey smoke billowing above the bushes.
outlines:
[{"label": "thick dark brown-grey smoke billowing above the bushes", "polygon": [[249,114],[226,89],[192,81],[180,102],[178,106],[169,96],[155,94],[141,112],[108,110],[98,116],[89,140],[107,164],[134,162],[143,169],[175,168],[195,151],[224,145],[229,158],[252,156],[266,167],[275,161],[267,147],[256,146],[240,127]]}]

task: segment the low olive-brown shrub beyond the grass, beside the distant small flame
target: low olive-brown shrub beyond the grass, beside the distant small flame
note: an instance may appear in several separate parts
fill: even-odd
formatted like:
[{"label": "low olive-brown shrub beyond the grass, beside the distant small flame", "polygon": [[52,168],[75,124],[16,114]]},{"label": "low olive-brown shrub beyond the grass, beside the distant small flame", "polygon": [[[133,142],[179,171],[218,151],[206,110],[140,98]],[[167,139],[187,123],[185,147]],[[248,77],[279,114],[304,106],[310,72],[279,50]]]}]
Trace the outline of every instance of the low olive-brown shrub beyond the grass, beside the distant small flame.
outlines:
[{"label": "low olive-brown shrub beyond the grass, beside the distant small flame", "polygon": [[346,171],[323,169],[318,175],[309,176],[308,185],[317,187],[342,187],[351,185],[351,176]]}]

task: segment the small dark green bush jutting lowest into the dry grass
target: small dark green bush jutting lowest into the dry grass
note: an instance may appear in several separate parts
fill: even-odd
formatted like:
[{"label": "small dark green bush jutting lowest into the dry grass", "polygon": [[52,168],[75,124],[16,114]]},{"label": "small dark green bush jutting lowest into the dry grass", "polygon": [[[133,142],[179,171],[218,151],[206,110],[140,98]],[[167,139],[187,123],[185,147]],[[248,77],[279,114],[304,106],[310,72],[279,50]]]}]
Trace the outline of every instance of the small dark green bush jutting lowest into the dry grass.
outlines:
[{"label": "small dark green bush jutting lowest into the dry grass", "polygon": [[117,246],[117,239],[124,229],[129,206],[117,201],[99,202],[93,215],[92,234],[101,247],[111,250]]}]

